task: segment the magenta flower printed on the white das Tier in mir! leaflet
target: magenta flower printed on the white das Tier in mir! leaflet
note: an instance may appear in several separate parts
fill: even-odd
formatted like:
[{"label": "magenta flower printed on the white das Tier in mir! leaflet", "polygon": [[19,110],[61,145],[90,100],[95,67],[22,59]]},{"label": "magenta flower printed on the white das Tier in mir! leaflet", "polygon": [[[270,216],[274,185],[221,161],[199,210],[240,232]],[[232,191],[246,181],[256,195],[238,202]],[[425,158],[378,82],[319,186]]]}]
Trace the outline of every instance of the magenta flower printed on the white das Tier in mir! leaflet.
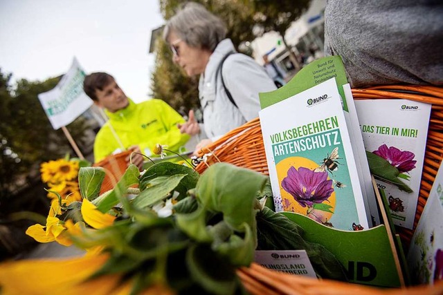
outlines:
[{"label": "magenta flower printed on the white das Tier in mir! leaflet", "polygon": [[392,166],[399,169],[400,173],[411,171],[415,168],[415,163],[417,163],[417,161],[413,160],[415,157],[414,153],[410,151],[400,151],[395,146],[388,148],[386,144],[383,144],[373,153],[390,162]]}]

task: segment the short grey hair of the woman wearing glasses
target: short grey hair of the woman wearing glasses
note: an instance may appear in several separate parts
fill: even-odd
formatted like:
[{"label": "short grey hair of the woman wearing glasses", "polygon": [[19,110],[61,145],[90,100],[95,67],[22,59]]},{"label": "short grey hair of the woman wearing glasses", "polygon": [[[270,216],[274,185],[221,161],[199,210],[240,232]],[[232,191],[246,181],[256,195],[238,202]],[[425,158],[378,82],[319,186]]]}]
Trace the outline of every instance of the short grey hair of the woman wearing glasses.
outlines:
[{"label": "short grey hair of the woman wearing glasses", "polygon": [[170,32],[191,47],[205,48],[213,52],[217,44],[226,37],[226,26],[219,17],[199,3],[190,2],[166,23],[163,39],[168,42]]}]

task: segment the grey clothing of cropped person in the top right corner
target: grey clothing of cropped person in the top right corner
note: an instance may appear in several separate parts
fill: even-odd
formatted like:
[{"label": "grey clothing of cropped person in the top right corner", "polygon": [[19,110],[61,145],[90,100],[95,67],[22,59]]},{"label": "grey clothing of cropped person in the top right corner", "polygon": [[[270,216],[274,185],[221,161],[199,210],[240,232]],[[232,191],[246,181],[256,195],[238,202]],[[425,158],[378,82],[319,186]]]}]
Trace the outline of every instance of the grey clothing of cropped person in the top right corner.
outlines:
[{"label": "grey clothing of cropped person in the top right corner", "polygon": [[441,0],[334,0],[325,8],[325,53],[340,55],[352,87],[443,85]]}]

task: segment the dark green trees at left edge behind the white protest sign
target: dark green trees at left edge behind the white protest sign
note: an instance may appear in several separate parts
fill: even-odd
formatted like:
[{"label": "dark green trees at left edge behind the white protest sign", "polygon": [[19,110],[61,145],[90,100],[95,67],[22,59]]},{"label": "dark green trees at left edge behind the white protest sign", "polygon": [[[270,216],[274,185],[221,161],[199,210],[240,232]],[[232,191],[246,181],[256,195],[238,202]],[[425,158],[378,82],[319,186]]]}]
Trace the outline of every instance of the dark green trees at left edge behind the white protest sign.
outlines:
[{"label": "dark green trees at left edge behind the white protest sign", "polygon": [[[15,185],[17,178],[39,178],[41,162],[63,158],[71,151],[62,130],[53,130],[37,97],[54,88],[60,77],[45,82],[20,79],[15,89],[10,85],[10,77],[11,74],[0,70],[0,196],[9,196],[19,189]],[[67,126],[79,145],[84,142],[85,128],[82,118]]]}]

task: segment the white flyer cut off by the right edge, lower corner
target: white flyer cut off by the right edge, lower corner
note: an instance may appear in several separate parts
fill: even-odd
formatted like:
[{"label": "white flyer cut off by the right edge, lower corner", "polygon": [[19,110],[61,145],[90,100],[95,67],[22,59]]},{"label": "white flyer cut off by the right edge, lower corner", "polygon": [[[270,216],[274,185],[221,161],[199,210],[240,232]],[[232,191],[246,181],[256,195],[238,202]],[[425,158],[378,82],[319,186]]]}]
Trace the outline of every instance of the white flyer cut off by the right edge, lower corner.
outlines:
[{"label": "white flyer cut off by the right edge, lower corner", "polygon": [[435,176],[428,201],[415,229],[408,252],[413,285],[443,279],[443,165]]}]

